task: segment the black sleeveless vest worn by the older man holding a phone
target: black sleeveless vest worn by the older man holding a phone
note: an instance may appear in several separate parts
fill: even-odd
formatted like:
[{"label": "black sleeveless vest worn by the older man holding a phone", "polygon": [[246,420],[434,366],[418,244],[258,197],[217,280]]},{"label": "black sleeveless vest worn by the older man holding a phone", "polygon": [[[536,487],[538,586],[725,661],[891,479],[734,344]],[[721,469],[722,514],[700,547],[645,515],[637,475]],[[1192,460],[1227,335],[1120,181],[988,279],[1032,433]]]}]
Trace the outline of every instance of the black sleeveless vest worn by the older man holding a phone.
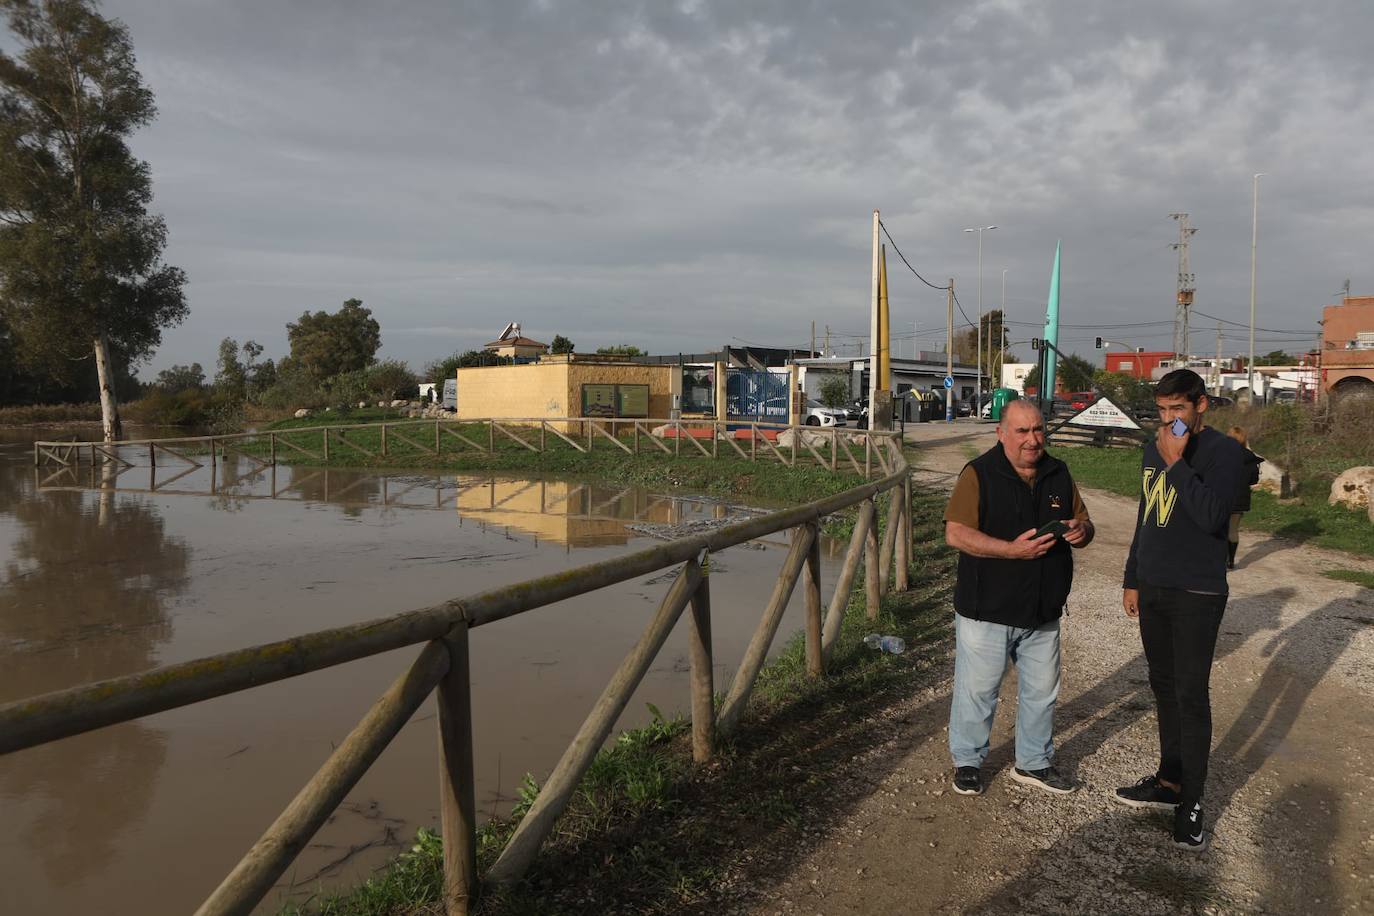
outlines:
[{"label": "black sleeveless vest worn by the older man holding a phone", "polygon": [[[978,475],[978,530],[1014,541],[1026,529],[1073,518],[1073,478],[1063,461],[1040,459],[1026,486],[1002,444],[969,461]],[[1039,560],[1002,560],[959,553],[954,608],[967,618],[1015,628],[1059,619],[1073,585],[1073,548],[1055,541]]]}]

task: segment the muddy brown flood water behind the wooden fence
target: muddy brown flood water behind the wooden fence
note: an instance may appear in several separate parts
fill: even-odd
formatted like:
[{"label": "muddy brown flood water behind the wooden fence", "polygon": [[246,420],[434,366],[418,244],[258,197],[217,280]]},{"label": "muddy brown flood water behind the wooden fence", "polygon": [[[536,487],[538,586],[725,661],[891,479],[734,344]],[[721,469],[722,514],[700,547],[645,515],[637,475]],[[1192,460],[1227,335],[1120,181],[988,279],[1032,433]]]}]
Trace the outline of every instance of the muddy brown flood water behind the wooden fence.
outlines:
[{"label": "muddy brown flood water behind the wooden fence", "polygon": [[[70,438],[67,431],[63,438]],[[747,509],[562,479],[169,463],[34,468],[0,431],[0,703],[426,607],[650,544],[628,525]],[[132,456],[131,456],[132,460]],[[743,654],[783,536],[712,558],[716,689]],[[826,544],[826,595],[840,545]],[[543,779],[672,573],[473,632],[477,799]],[[801,626],[793,596],[775,644]],[[618,728],[686,710],[679,622]],[[418,647],[0,757],[0,912],[184,913],[228,873]],[[438,827],[433,699],[261,908],[367,878]]]}]

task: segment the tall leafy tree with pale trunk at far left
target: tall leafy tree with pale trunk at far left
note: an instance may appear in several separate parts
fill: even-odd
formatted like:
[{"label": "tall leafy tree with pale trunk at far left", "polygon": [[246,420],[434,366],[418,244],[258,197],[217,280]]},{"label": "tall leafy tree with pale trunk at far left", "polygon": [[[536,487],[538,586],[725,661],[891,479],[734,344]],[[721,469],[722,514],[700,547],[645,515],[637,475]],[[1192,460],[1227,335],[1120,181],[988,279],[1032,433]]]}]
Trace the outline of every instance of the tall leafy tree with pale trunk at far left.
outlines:
[{"label": "tall leafy tree with pale trunk at far left", "polygon": [[[0,52],[0,309],[21,360],[58,378],[95,357],[107,441],[115,375],[187,312],[162,264],[166,224],[126,139],[153,121],[129,30],[92,0],[0,0],[18,56]],[[82,356],[85,354],[85,356]]]}]

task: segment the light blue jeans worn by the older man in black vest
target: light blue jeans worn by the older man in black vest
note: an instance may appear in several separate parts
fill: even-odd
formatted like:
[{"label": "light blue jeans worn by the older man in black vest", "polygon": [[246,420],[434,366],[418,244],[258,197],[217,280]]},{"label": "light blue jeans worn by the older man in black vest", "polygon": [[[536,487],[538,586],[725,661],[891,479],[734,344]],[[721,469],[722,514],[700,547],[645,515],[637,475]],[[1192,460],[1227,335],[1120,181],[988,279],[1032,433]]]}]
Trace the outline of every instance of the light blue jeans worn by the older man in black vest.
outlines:
[{"label": "light blue jeans worn by the older man in black vest", "polygon": [[1037,629],[974,621],[955,614],[954,700],[949,754],[955,766],[982,766],[988,757],[998,689],[1017,666],[1017,766],[1054,761],[1054,703],[1059,698],[1059,621]]}]

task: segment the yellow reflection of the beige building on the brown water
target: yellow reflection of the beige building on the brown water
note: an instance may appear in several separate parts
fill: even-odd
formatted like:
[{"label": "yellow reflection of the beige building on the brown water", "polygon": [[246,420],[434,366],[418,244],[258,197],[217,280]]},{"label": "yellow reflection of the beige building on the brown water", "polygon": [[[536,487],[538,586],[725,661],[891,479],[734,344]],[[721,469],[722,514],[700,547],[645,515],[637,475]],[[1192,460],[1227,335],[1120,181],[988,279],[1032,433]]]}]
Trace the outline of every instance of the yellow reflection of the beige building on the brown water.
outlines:
[{"label": "yellow reflection of the beige building on the brown water", "polygon": [[[676,525],[684,511],[695,515],[703,504],[671,496],[653,496],[638,488],[616,489],[573,481],[491,479],[466,486],[458,494],[464,518],[513,527],[541,541],[566,547],[625,544],[633,537],[627,522]],[[725,507],[712,507],[724,515]]]}]

